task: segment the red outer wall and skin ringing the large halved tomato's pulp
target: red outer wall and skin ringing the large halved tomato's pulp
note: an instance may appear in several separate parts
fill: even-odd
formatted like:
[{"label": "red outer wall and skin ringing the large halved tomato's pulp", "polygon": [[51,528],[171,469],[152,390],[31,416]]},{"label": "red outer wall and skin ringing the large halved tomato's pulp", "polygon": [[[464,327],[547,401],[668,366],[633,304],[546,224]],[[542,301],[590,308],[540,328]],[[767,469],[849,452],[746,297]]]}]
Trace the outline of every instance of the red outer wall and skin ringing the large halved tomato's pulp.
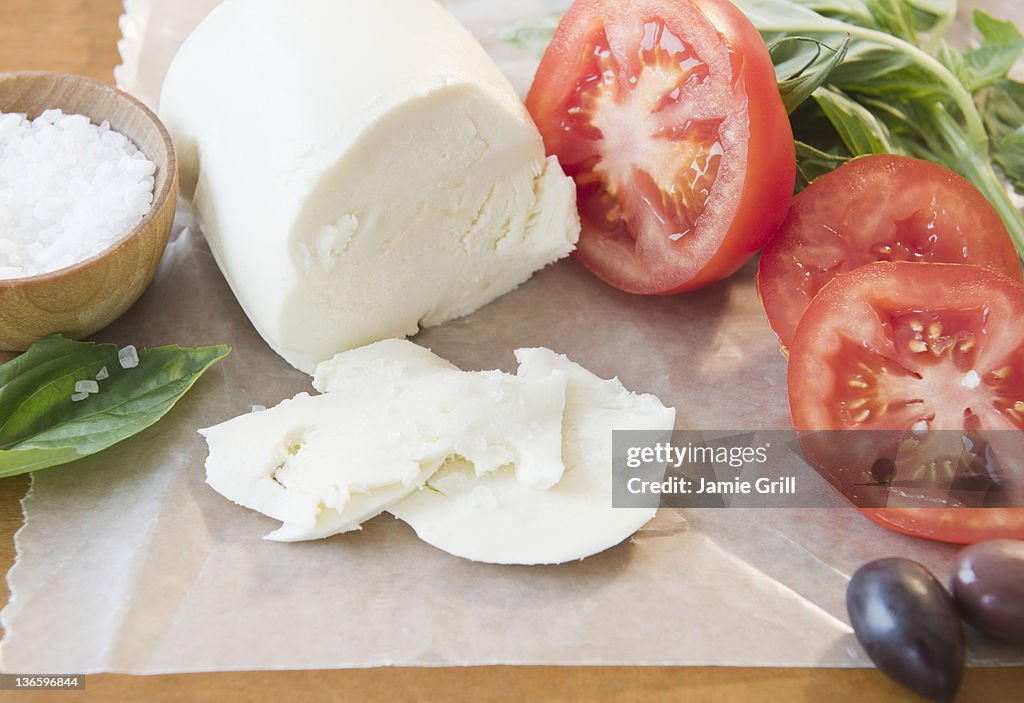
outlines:
[{"label": "red outer wall and skin ringing the large halved tomato's pulp", "polygon": [[[764,246],[781,222],[792,197],[796,157],[792,128],[768,51],[745,15],[727,0],[577,0],[559,24],[526,97],[526,107],[549,155],[558,156],[570,171],[565,159],[574,147],[564,133],[561,116],[585,71],[581,55],[586,53],[590,39],[607,27],[638,32],[652,17],[664,19],[683,39],[699,32],[700,41],[724,46],[731,67],[726,89],[744,103],[745,119],[739,131],[744,131],[745,137],[741,144],[726,150],[723,161],[732,160],[742,174],[722,186],[733,191],[728,197],[722,188],[713,186],[708,209],[697,218],[695,229],[672,245],[646,248],[653,253],[643,251],[642,246],[636,249],[638,253],[607,246],[601,227],[588,215],[581,193],[583,232],[575,256],[589,270],[620,290],[668,295],[725,278]],[[715,203],[727,203],[728,207],[714,208]],[[645,233],[649,227],[627,227],[634,240],[664,236],[660,232]],[[700,240],[688,241],[694,236]]]}]

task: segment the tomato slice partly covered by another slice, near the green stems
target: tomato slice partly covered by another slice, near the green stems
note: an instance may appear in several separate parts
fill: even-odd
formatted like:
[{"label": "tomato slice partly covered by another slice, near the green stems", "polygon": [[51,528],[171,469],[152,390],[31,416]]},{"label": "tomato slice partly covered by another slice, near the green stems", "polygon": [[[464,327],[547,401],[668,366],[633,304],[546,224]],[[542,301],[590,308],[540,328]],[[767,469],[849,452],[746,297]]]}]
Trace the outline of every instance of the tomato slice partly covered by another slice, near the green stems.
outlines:
[{"label": "tomato slice partly covered by another slice, near the green stems", "polygon": [[1022,279],[1002,220],[965,178],[906,157],[855,159],[801,191],[761,253],[758,293],[782,346],[822,285],[872,261],[975,264]]}]

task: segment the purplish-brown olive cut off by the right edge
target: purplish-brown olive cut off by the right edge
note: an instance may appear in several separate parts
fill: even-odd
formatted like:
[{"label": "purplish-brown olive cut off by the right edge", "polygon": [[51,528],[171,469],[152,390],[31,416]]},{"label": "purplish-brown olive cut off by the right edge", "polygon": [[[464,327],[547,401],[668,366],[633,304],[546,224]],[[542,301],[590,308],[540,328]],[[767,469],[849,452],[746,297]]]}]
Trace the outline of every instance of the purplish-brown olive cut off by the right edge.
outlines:
[{"label": "purplish-brown olive cut off by the right edge", "polygon": [[986,634],[1024,644],[1024,541],[993,539],[961,552],[952,590],[969,623]]}]

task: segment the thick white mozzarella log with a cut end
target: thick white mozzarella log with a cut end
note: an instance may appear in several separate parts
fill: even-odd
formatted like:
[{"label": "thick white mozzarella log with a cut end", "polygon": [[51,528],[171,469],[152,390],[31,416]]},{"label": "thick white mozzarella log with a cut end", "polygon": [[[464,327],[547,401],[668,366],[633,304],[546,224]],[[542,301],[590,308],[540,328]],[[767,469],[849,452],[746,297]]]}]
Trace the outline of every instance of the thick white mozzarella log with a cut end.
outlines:
[{"label": "thick white mozzarella log with a cut end", "polygon": [[472,312],[579,236],[571,179],[432,0],[226,0],[160,112],[234,295],[307,372]]}]

